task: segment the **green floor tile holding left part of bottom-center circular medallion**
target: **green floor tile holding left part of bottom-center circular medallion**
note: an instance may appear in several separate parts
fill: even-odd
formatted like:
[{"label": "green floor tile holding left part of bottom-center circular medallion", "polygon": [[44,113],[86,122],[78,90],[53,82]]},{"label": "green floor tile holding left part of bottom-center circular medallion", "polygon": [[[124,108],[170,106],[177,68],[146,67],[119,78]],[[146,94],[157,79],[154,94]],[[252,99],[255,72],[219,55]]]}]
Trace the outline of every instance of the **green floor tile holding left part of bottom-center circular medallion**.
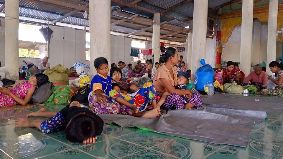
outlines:
[{"label": "green floor tile holding left part of bottom-center circular medallion", "polygon": [[99,158],[122,158],[136,152],[145,152],[147,148],[116,138],[98,142],[95,145],[85,145],[79,148]]}]

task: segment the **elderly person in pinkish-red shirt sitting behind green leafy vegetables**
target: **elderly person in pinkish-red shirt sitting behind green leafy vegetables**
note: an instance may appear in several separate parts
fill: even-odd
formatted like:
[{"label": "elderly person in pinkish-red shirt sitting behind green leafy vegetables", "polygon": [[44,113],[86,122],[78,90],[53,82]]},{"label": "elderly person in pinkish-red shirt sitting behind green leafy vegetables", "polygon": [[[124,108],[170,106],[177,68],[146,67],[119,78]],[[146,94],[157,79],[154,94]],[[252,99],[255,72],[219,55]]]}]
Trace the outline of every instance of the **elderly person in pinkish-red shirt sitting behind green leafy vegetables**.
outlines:
[{"label": "elderly person in pinkish-red shirt sitting behind green leafy vegetables", "polygon": [[254,66],[254,71],[246,77],[244,83],[247,84],[251,82],[252,85],[264,88],[266,87],[267,80],[267,73],[262,71],[262,67],[257,64]]}]

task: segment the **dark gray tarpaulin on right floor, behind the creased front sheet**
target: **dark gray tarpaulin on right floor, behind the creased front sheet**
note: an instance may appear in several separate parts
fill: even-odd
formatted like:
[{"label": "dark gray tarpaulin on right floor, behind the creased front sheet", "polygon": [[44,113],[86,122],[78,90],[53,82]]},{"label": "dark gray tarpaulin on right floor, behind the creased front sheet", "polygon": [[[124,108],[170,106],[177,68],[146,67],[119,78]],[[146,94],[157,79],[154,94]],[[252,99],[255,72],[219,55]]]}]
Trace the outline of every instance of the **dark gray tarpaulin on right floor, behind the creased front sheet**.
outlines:
[{"label": "dark gray tarpaulin on right floor, behind the creased front sheet", "polygon": [[266,111],[268,118],[283,113],[283,97],[214,94],[204,96],[202,101],[204,107]]}]

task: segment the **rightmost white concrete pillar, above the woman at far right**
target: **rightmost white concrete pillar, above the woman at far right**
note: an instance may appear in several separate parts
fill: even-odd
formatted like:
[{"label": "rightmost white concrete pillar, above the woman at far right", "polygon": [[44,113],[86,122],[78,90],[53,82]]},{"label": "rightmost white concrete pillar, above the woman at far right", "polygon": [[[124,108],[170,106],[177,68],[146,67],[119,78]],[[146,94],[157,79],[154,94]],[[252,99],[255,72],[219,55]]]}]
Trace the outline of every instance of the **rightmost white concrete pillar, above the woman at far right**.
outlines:
[{"label": "rightmost white concrete pillar, above the woman at far right", "polygon": [[266,57],[266,72],[272,75],[268,65],[276,59],[276,30],[277,30],[277,14],[278,0],[269,0],[268,13],[268,35],[267,35],[267,57]]}]

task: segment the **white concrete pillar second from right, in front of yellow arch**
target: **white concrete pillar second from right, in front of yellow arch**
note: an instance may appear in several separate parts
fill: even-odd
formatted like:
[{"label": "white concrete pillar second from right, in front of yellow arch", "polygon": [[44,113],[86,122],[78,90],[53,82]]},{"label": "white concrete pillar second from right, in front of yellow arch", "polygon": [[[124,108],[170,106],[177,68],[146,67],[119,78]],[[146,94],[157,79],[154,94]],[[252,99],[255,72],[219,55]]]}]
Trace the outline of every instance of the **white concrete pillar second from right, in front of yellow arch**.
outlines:
[{"label": "white concrete pillar second from right, in front of yellow arch", "polygon": [[245,74],[251,72],[251,42],[253,35],[254,1],[243,1],[242,27],[241,27],[241,49],[240,67]]}]

